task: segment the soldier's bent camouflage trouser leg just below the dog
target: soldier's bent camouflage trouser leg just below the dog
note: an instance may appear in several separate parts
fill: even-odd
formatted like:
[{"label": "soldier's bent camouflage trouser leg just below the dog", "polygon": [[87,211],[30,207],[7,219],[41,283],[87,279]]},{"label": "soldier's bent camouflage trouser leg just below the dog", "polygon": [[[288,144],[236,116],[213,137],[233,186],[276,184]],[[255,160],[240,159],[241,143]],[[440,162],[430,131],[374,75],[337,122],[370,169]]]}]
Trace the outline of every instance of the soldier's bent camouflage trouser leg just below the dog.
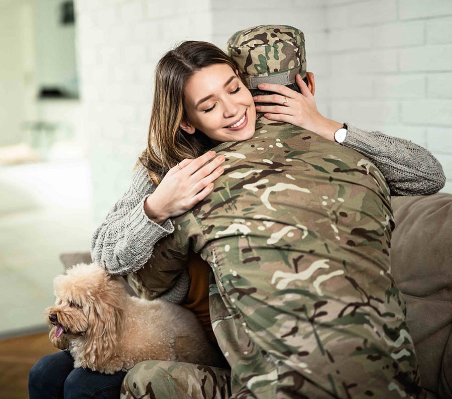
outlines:
[{"label": "soldier's bent camouflage trouser leg just below the dog", "polygon": [[146,361],[126,374],[122,399],[222,399],[231,395],[230,371],[218,367]]}]

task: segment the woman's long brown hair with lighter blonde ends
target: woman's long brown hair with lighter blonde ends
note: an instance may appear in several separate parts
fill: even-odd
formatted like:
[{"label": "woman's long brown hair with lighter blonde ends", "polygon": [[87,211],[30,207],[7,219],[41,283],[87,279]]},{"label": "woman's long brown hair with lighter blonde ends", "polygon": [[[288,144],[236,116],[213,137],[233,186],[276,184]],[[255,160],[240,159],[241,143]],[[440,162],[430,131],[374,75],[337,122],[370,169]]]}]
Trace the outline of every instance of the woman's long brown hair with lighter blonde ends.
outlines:
[{"label": "woman's long brown hair with lighter blonde ends", "polygon": [[148,144],[139,158],[155,184],[178,162],[196,158],[212,147],[207,136],[199,131],[188,134],[179,125],[186,120],[185,83],[195,72],[213,64],[237,69],[215,45],[193,40],[168,51],[157,64]]}]

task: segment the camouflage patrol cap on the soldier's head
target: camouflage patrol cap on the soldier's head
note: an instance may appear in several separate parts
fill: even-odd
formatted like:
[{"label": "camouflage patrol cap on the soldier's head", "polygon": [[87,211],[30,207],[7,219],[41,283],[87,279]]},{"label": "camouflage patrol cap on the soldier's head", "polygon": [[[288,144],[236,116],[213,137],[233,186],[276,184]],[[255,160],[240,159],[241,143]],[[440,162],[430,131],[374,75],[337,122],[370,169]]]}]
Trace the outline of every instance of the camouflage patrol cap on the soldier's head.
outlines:
[{"label": "camouflage patrol cap on the soldier's head", "polygon": [[304,35],[287,25],[259,25],[236,32],[226,52],[236,62],[248,88],[259,83],[288,85],[306,76]]}]

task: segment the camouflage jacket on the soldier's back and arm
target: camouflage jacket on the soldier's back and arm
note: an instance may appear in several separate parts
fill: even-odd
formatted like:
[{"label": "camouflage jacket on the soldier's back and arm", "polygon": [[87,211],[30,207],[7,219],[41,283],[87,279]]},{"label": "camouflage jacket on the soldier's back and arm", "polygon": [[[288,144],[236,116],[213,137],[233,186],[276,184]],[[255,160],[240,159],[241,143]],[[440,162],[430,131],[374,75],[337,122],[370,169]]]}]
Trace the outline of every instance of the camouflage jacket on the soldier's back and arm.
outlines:
[{"label": "camouflage jacket on the soldier's back and arm", "polygon": [[231,397],[423,397],[383,175],[314,133],[256,126],[215,148],[230,167],[152,258],[174,273],[192,247],[211,265]]}]

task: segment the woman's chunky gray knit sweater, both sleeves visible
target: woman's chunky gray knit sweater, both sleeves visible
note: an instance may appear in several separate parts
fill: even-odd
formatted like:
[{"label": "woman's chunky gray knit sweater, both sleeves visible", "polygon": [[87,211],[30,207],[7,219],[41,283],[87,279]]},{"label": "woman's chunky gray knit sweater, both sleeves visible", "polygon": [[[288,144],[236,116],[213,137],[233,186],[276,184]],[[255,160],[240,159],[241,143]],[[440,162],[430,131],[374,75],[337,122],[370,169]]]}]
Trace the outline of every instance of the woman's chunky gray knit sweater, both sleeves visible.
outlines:
[{"label": "woman's chunky gray knit sweater, both sleeves visible", "polygon": [[[437,159],[408,140],[348,125],[343,144],[365,155],[381,170],[392,195],[432,194],[444,186],[445,176]],[[110,274],[139,270],[151,257],[156,242],[174,231],[170,220],[158,225],[144,212],[144,201],[154,189],[146,169],[138,166],[129,189],[94,232],[92,259]],[[162,296],[180,303],[188,284],[188,274],[183,273],[176,285]]]}]

